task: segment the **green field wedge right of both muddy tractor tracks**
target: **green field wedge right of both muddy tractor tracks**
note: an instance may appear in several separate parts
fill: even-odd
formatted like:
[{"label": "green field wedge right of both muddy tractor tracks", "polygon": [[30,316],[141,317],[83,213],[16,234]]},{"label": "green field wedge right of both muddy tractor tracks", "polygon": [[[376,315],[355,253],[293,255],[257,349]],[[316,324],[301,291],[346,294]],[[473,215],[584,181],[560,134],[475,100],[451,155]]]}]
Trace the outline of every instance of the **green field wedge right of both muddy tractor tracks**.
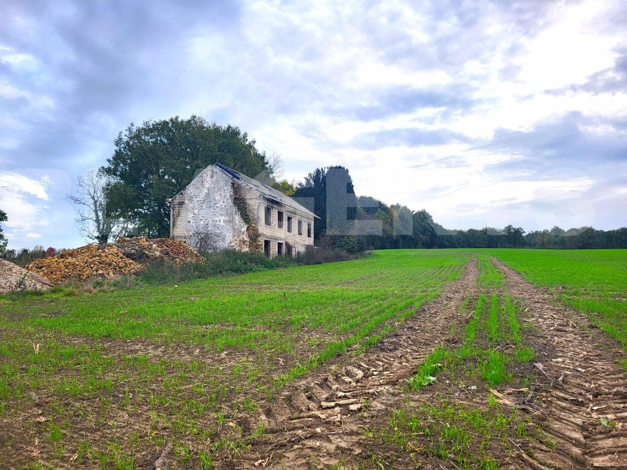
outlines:
[{"label": "green field wedge right of both muddy tractor tracks", "polygon": [[548,288],[627,350],[627,250],[481,249]]}]

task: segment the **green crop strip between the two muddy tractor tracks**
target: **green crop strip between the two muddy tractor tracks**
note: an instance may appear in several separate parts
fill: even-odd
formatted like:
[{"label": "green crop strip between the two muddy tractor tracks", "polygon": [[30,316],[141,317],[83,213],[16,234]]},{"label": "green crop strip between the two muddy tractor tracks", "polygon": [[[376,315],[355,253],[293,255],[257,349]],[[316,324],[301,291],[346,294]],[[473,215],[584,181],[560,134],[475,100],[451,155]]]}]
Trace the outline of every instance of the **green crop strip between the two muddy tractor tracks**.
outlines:
[{"label": "green crop strip between the two muddy tractor tracks", "polygon": [[[489,258],[478,262],[483,275],[478,285],[488,290],[503,286],[504,276]],[[515,440],[522,445],[534,439],[551,444],[550,437],[530,426],[528,418],[516,410],[503,412],[490,392],[514,381],[529,384],[524,373],[529,366],[523,365],[535,352],[527,345],[529,326],[522,306],[510,295],[484,292],[467,297],[459,313],[467,321],[451,327],[458,341],[436,347],[424,359],[408,381],[403,406],[385,426],[364,430],[372,443],[391,446],[386,467],[391,462],[395,466],[396,459],[399,467],[407,467],[408,459],[420,467],[421,459],[431,456],[456,468],[490,470],[500,466],[503,454],[514,453],[514,446],[519,446]],[[425,395],[428,387],[439,388]],[[379,464],[382,459],[373,454],[372,462]]]}]

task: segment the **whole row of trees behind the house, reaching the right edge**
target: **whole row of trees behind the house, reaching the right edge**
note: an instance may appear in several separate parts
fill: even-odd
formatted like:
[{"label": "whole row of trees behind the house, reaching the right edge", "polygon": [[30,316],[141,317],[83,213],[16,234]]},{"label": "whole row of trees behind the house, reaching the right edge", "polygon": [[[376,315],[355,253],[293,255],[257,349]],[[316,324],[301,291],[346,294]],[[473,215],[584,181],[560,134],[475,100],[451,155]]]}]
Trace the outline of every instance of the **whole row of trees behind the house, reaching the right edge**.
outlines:
[{"label": "whole row of trees behind the house, reaching the right edge", "polygon": [[[79,177],[76,194],[68,195],[78,206],[80,233],[96,243],[107,243],[120,235],[168,237],[169,200],[198,172],[221,163],[275,187],[312,210],[320,217],[314,224],[314,240],[319,246],[342,246],[347,251],[627,248],[624,227],[610,231],[553,227],[529,233],[512,225],[503,229],[445,229],[424,209],[414,211],[401,204],[388,206],[374,197],[356,196],[349,170],[341,166],[317,168],[301,182],[290,183],[282,179],[280,157],[258,150],[246,132],[194,115],[145,121],[139,126],[131,123],[113,143],[115,149],[107,164]],[[0,222],[6,219],[0,210]],[[0,253],[6,244],[0,226]]]}]

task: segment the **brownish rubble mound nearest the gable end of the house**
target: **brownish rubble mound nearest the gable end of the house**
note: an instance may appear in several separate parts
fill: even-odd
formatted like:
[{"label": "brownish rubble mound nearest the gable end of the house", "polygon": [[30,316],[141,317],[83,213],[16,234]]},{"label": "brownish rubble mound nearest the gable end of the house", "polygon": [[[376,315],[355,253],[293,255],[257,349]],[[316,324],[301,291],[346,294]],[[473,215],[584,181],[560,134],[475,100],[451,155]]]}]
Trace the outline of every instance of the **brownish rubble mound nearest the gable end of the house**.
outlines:
[{"label": "brownish rubble mound nearest the gable end of the house", "polygon": [[119,248],[127,258],[142,264],[161,261],[164,258],[174,264],[204,261],[191,246],[172,238],[120,237],[113,246]]}]

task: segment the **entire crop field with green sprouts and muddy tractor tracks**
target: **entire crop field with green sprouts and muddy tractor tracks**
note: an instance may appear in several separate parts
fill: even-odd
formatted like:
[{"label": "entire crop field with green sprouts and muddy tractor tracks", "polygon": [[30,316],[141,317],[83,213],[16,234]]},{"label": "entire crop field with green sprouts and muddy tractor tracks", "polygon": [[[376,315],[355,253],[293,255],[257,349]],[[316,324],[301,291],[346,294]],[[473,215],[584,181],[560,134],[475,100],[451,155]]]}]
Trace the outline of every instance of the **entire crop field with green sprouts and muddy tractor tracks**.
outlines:
[{"label": "entire crop field with green sprouts and muddy tractor tracks", "polygon": [[0,468],[624,468],[626,267],[389,250],[0,296]]}]

